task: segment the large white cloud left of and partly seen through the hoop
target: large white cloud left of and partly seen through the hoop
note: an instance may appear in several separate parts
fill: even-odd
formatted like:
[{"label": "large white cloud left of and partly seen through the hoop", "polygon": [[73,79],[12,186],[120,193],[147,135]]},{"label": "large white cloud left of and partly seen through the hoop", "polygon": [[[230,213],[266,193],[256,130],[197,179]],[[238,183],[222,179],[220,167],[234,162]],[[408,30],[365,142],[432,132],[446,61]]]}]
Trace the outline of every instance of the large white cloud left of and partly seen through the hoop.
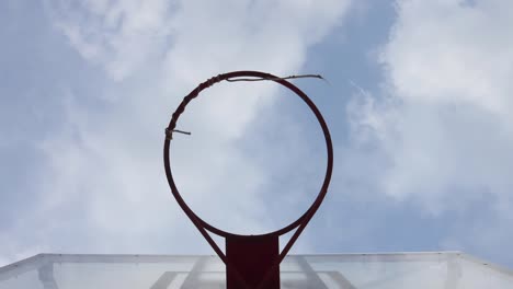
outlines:
[{"label": "large white cloud left of and partly seen through the hoop", "polygon": [[[57,31],[113,82],[100,90],[102,109],[84,106],[82,94],[72,89],[66,93],[68,123],[41,146],[47,155],[47,170],[39,176],[45,198],[23,222],[38,232],[26,243],[107,253],[204,247],[189,220],[182,227],[184,216],[164,180],[161,147],[172,109],[200,81],[220,72],[299,72],[308,47],[340,23],[347,3],[46,2]],[[180,154],[173,160],[186,200],[230,229],[264,230],[274,223],[261,210],[265,205],[259,192],[272,175],[239,143],[254,138],[248,128],[264,108],[273,109],[272,95],[278,92],[270,83],[218,84],[191,104],[179,123],[193,131],[189,138],[176,136]],[[304,135],[300,128],[287,131]],[[276,141],[301,151],[293,140]],[[217,195],[229,206],[209,211],[223,206]],[[26,230],[33,228],[16,227],[10,235]]]}]

